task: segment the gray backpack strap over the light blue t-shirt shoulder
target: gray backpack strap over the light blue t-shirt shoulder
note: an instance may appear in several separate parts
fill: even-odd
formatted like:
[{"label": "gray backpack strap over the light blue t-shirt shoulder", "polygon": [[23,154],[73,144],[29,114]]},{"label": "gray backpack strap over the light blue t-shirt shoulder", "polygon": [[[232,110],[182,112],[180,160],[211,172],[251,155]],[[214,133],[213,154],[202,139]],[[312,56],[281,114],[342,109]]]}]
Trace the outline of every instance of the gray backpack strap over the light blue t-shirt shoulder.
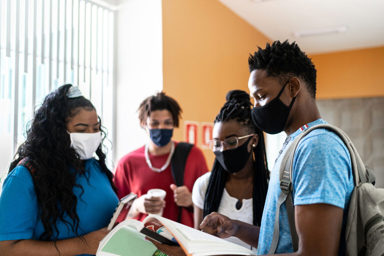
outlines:
[{"label": "gray backpack strap over the light blue t-shirt shoulder", "polygon": [[349,154],[351,155],[352,173],[354,176],[354,181],[356,186],[359,186],[362,183],[367,183],[367,182],[372,183],[375,180],[373,171],[368,166],[364,166],[359,154],[356,151],[356,148],[354,147],[349,137],[344,133],[344,131],[340,130],[336,126],[328,125],[328,124],[314,125],[304,130],[302,133],[300,133],[300,135],[297,136],[297,138],[295,138],[294,142],[288,148],[286,148],[285,155],[283,156],[283,159],[281,161],[280,172],[279,172],[281,193],[277,201],[275,227],[273,229],[273,238],[272,238],[272,243],[271,243],[271,247],[268,254],[274,254],[277,248],[277,244],[279,241],[279,231],[280,231],[280,228],[279,228],[280,206],[283,202],[285,202],[285,206],[288,214],[288,222],[289,222],[290,231],[291,231],[293,251],[295,252],[298,250],[299,239],[296,232],[295,211],[294,211],[293,201],[291,197],[291,192],[293,191],[293,186],[292,186],[293,157],[295,155],[295,151],[300,140],[315,129],[328,129],[336,133],[336,135],[338,135],[341,138],[341,140],[343,140],[344,144],[348,148]]}]

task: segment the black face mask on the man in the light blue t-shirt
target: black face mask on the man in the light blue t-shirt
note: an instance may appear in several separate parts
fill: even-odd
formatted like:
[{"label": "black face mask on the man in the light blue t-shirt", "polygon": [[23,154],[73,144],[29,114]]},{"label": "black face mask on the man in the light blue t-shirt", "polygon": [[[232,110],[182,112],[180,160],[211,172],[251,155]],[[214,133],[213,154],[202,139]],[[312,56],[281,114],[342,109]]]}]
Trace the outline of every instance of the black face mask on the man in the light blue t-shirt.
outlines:
[{"label": "black face mask on the man in the light blue t-shirt", "polygon": [[295,102],[296,99],[295,96],[289,106],[286,106],[279,99],[281,93],[283,93],[284,88],[288,84],[288,82],[289,80],[285,83],[276,98],[274,98],[264,106],[252,108],[251,115],[253,123],[255,123],[255,125],[260,130],[269,134],[280,133],[284,130],[293,102]]}]

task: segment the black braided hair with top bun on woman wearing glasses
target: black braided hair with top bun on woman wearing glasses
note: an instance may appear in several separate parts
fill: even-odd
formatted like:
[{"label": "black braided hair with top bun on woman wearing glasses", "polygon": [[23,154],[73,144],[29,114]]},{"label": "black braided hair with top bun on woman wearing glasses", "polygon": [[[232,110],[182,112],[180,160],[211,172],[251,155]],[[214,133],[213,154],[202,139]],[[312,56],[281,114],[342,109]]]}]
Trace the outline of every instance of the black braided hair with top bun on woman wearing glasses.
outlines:
[{"label": "black braided hair with top bun on woman wearing glasses", "polygon": [[[241,90],[233,90],[229,91],[225,98],[227,102],[220,109],[220,113],[218,113],[215,118],[215,123],[235,120],[259,136],[257,146],[253,148],[255,178],[253,180],[252,200],[253,224],[260,226],[269,179],[263,132],[258,129],[252,121],[252,103],[250,102],[248,93]],[[213,211],[218,210],[227,177],[228,172],[225,171],[218,160],[215,159],[205,193],[203,218]]]}]

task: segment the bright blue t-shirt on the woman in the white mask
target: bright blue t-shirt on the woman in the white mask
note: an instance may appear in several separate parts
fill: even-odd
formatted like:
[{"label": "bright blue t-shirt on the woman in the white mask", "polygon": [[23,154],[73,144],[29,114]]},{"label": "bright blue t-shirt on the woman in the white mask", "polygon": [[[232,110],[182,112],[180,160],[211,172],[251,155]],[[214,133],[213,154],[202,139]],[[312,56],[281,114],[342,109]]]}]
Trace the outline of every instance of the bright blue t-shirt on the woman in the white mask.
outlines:
[{"label": "bright blue t-shirt on the woman in the white mask", "polygon": [[[108,226],[119,202],[106,174],[101,171],[95,159],[85,160],[84,168],[89,172],[89,180],[84,175],[76,178],[76,184],[84,189],[81,198],[81,188],[73,188],[78,198],[76,212],[79,216],[79,235]],[[72,223],[68,216],[64,218]],[[58,240],[76,237],[63,222],[58,222],[57,228]],[[39,239],[43,232],[32,177],[24,166],[17,166],[4,180],[0,196],[0,241]]]}]

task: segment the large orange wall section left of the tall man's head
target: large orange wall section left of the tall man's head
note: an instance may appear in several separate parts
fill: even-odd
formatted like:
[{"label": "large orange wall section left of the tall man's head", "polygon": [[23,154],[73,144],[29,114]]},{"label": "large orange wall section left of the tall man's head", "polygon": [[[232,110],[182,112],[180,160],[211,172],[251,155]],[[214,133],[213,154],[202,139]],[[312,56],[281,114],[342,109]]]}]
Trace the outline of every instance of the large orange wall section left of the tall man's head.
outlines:
[{"label": "large orange wall section left of the tall man's head", "polygon": [[[162,8],[164,91],[183,120],[213,122],[229,90],[248,91],[248,54],[271,40],[217,0],[163,0]],[[182,131],[183,121],[176,140]],[[203,152],[211,169],[214,154]]]}]

